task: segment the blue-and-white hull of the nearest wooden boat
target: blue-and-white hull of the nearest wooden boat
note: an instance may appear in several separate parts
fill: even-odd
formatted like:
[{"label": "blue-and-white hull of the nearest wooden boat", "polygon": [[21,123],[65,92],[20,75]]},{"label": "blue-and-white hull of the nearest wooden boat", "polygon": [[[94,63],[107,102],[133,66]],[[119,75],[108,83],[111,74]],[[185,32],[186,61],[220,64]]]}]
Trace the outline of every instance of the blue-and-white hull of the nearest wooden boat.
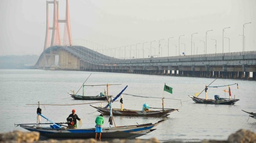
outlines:
[{"label": "blue-and-white hull of the nearest wooden boat", "polygon": [[[101,138],[136,138],[156,130],[154,127],[165,120],[160,120],[157,123],[102,128]],[[20,125],[20,127],[31,132],[39,132],[40,135],[48,138],[95,138],[95,128],[50,128],[36,127],[35,125]]]}]

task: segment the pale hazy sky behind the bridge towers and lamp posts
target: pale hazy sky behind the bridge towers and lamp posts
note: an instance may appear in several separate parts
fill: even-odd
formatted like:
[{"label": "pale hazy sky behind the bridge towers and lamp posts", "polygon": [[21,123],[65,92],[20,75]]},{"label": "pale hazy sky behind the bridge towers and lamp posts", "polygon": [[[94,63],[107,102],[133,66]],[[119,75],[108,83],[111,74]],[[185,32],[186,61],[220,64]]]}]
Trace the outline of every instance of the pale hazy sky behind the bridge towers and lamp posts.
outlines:
[{"label": "pale hazy sky behind the bridge towers and lamp posts", "polygon": [[[191,54],[191,34],[198,54],[203,54],[206,31],[207,54],[222,52],[222,34],[230,38],[230,52],[256,50],[256,0],[70,0],[72,39],[85,39],[109,48],[152,42],[152,55],[161,40],[163,55],[175,55],[175,46],[186,45]],[[65,18],[65,0],[59,0],[60,19]],[[50,7],[52,16],[53,6]],[[44,49],[46,0],[0,0],[0,55],[40,55]],[[51,23],[50,23],[51,24]],[[60,26],[63,33],[62,25]],[[74,41],[75,42],[75,41]],[[75,44],[75,43],[74,43]],[[180,51],[184,52],[184,44]],[[166,46],[164,46],[166,45]],[[134,49],[135,46],[132,48]],[[193,46],[194,47],[194,46]],[[228,52],[224,39],[224,52]],[[99,46],[94,49],[102,49]],[[137,45],[142,49],[142,44]],[[177,49],[178,50],[178,49]],[[142,50],[140,51],[142,52]],[[194,52],[194,49],[193,49]],[[196,52],[196,51],[195,51]],[[147,55],[147,54],[146,54]]]}]

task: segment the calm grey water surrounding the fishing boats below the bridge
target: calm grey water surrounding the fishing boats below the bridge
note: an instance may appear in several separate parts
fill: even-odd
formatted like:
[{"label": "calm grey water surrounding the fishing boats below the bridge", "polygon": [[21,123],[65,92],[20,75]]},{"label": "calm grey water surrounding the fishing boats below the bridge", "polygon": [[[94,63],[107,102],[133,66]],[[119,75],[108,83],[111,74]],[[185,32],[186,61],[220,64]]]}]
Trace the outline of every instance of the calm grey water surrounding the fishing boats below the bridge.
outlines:
[{"label": "calm grey water surrounding the fishing boats below the bridge", "polygon": [[[54,71],[54,70],[0,70],[0,132],[23,130],[14,127],[14,123],[35,123],[37,120],[37,106],[26,104],[79,104],[95,101],[76,101],[67,94],[70,90],[77,91],[85,79],[92,73],[86,84],[122,84],[112,85],[109,88],[110,95],[117,95],[126,85],[124,93],[162,97],[164,83],[173,88],[173,94],[164,92],[165,98],[181,99],[165,100],[166,108],[180,109],[172,112],[167,120],[158,125],[152,133],[141,136],[141,139],[156,137],[158,140],[202,140],[216,139],[226,140],[228,135],[244,128],[256,132],[256,120],[249,118],[241,109],[256,112],[256,81],[217,79],[212,86],[239,83],[239,89],[231,86],[231,93],[240,101],[235,105],[209,105],[195,104],[187,95],[201,92],[205,85],[214,79],[189,78],[173,76],[139,75],[125,73],[101,73],[80,71]],[[85,93],[98,95],[104,92],[105,86],[87,87]],[[228,98],[224,88],[208,90],[208,98],[214,98],[214,94]],[[227,88],[226,88],[227,89]],[[82,91],[79,92],[82,94]],[[200,98],[204,98],[202,93]],[[144,103],[151,107],[162,107],[161,99],[138,98],[124,95],[124,108],[141,110]],[[99,105],[100,103],[94,103]],[[105,103],[103,103],[105,105]],[[115,102],[113,107],[120,107]],[[82,127],[94,127],[95,117],[99,112],[89,106],[41,106],[42,114],[54,122],[65,122],[72,109],[82,119]],[[109,127],[108,117],[105,116],[104,127]],[[162,117],[120,117],[115,116],[115,123],[121,125],[134,125],[136,123],[157,122]],[[248,121],[247,121],[248,120]],[[42,122],[47,122],[42,119]]]}]

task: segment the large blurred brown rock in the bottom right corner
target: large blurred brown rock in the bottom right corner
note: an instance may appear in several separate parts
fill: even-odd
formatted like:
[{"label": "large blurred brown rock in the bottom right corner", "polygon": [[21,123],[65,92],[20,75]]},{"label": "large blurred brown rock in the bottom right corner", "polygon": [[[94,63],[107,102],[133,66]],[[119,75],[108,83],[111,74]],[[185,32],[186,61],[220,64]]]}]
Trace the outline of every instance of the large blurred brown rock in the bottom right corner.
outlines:
[{"label": "large blurred brown rock in the bottom right corner", "polygon": [[256,133],[249,130],[238,130],[236,133],[229,135],[229,143],[256,143]]}]

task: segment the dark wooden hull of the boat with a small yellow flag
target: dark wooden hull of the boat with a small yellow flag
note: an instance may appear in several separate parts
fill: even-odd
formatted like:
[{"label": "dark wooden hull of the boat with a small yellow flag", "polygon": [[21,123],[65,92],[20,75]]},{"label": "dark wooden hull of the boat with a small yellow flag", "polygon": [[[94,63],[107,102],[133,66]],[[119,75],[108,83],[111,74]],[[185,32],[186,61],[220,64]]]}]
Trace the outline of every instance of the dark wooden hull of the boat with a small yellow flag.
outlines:
[{"label": "dark wooden hull of the boat with a small yellow flag", "polygon": [[213,99],[203,99],[203,98],[196,98],[195,96],[189,95],[190,98],[196,103],[202,103],[202,104],[225,104],[225,105],[234,105],[235,102],[239,101],[239,99],[227,99],[227,98],[221,98],[218,100]]}]

